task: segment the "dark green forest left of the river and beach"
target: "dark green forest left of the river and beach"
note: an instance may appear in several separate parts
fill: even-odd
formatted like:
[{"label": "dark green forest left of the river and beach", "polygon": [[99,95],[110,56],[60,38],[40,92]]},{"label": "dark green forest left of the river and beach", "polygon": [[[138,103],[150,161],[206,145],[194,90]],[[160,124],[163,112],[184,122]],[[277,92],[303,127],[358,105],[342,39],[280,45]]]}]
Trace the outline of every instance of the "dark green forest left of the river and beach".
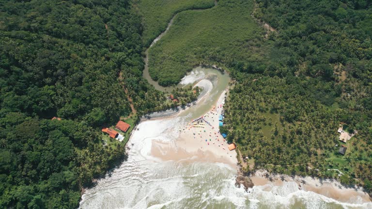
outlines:
[{"label": "dark green forest left of the river and beach", "polygon": [[[171,102],[142,78],[142,27],[128,0],[0,3],[0,208],[77,208],[82,187],[126,158],[143,114]],[[199,92],[199,91],[198,91]],[[132,126],[123,143],[103,126]]]}]

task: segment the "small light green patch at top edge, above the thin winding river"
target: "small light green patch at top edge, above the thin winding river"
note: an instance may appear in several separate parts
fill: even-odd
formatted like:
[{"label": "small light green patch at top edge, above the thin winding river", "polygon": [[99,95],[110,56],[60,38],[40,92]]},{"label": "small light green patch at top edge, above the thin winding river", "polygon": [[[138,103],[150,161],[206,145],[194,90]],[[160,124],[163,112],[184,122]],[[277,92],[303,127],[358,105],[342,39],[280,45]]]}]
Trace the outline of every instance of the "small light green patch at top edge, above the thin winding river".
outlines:
[{"label": "small light green patch at top edge, above the thin winding river", "polygon": [[135,0],[143,21],[142,40],[146,47],[167,28],[172,16],[189,9],[205,9],[214,0]]}]

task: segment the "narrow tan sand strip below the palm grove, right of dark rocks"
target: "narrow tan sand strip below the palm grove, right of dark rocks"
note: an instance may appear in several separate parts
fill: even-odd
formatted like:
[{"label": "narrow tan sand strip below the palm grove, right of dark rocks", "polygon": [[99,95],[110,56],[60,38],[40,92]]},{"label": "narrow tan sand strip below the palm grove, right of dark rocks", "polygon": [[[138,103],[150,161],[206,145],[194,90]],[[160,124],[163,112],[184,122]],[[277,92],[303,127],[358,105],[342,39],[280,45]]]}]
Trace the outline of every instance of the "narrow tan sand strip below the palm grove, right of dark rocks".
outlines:
[{"label": "narrow tan sand strip below the palm grove, right of dark rocks", "polygon": [[[340,182],[333,179],[318,179],[311,177],[294,176],[294,178],[286,175],[270,175],[272,181],[264,176],[267,172],[259,170],[251,177],[255,186],[265,186],[264,191],[271,191],[275,186],[285,186],[284,182],[295,182],[298,185],[298,190],[314,192],[326,197],[346,203],[366,203],[371,202],[367,193],[360,188],[346,188]],[[281,176],[284,177],[283,181]]]}]

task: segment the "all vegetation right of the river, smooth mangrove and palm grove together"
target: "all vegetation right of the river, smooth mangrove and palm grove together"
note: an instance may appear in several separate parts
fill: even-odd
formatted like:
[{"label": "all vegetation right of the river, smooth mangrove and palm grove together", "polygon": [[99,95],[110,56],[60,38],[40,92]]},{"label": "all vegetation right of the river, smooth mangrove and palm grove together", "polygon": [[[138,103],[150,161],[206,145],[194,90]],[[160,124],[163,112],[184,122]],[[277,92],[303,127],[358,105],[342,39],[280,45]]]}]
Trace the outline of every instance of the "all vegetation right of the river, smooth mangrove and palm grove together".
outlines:
[{"label": "all vegetation right of the river, smooth mangrove and palm grove together", "polygon": [[[339,178],[371,191],[370,17],[369,1],[220,0],[176,15],[149,49],[149,72],[164,86],[196,65],[230,73],[222,129],[250,159],[245,171]],[[357,132],[346,144],[340,123]]]}]

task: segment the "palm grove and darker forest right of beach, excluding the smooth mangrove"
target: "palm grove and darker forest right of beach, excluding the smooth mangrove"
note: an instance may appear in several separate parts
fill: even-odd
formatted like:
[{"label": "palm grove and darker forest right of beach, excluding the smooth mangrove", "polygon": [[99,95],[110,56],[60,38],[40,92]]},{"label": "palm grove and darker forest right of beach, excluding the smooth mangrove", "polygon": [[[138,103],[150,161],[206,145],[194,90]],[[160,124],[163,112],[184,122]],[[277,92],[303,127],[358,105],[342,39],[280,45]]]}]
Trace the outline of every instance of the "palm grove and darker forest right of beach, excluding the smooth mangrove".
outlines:
[{"label": "palm grove and darker forest right of beach, excluding the smooth mangrove", "polygon": [[[370,8],[367,1],[257,1],[255,17],[278,32],[266,41],[273,47],[261,74],[245,63],[231,69],[237,83],[225,123],[250,159],[246,172],[338,178],[372,190]],[[346,144],[340,123],[357,133]]]}]

